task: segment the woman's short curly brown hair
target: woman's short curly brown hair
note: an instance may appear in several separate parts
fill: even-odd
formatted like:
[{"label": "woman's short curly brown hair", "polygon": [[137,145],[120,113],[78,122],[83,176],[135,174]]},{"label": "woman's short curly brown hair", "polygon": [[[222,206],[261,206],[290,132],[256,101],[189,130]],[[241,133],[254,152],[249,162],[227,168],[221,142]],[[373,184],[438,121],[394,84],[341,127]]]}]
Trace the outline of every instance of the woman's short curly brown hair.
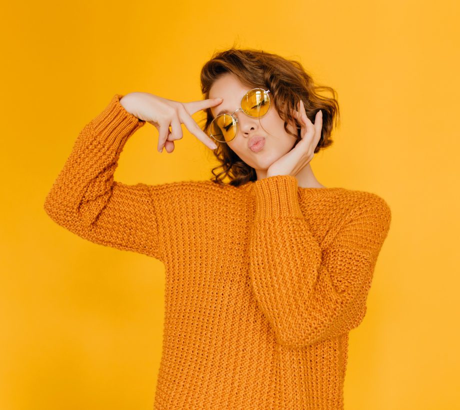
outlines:
[{"label": "woman's short curly brown hair", "polygon": [[[307,117],[313,122],[318,109],[322,110],[321,137],[314,153],[332,144],[331,132],[340,119],[336,91],[323,85],[316,85],[312,77],[305,71],[300,62],[289,60],[277,54],[251,48],[235,48],[215,51],[212,57],[203,65],[200,73],[201,92],[204,99],[209,98],[209,90],[223,73],[230,72],[248,88],[261,87],[270,90],[270,98],[281,119],[284,120],[285,131],[301,139],[300,124],[291,115],[297,102],[302,99]],[[330,91],[332,98],[319,95],[319,91]],[[209,135],[209,125],[213,119],[210,108],[205,110],[206,118],[202,130]],[[287,129],[288,124],[294,124],[297,134]],[[248,181],[257,180],[255,169],[247,165],[225,142],[214,141],[217,149],[212,152],[219,165],[212,168],[214,175],[211,181],[225,185],[223,178],[227,176],[229,184],[242,185]],[[219,173],[216,169],[222,168]]]}]

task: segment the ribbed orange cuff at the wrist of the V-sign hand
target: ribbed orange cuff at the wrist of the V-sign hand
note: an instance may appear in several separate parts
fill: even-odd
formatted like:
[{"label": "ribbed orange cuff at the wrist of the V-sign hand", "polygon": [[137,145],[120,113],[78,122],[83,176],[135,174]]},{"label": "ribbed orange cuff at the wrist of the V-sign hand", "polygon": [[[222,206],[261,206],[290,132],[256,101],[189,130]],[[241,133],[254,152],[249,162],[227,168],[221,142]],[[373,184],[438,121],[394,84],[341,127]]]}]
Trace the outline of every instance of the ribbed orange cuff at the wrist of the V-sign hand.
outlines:
[{"label": "ribbed orange cuff at the wrist of the V-sign hand", "polygon": [[115,94],[104,110],[92,120],[94,137],[105,146],[123,146],[129,136],[145,124],[120,104],[122,96]]}]

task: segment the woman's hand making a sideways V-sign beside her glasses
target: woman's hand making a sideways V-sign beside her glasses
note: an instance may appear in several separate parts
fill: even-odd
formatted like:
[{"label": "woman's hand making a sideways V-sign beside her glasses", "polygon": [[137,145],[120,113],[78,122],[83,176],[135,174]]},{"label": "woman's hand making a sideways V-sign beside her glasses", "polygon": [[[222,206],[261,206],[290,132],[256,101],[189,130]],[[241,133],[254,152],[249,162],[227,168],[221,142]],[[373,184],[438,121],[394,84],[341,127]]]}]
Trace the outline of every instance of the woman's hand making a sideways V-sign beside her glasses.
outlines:
[{"label": "woman's hand making a sideways V-sign beside her glasses", "polygon": [[[200,99],[191,102],[179,102],[148,92],[130,92],[120,98],[120,104],[132,115],[156,127],[158,130],[158,151],[174,150],[174,140],[182,138],[183,123],[187,129],[204,145],[215,149],[217,145],[206,135],[191,114],[205,108],[218,105],[221,98]],[[169,130],[169,126],[171,130]]]}]

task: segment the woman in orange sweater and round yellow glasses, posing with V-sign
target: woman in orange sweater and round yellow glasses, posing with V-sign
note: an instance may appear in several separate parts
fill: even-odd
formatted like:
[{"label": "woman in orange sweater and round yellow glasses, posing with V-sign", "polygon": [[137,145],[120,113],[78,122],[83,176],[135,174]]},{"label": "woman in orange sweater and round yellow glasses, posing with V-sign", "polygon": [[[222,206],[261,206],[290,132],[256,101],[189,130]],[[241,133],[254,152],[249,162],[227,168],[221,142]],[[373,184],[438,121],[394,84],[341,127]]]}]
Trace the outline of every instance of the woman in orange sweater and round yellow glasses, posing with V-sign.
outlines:
[{"label": "woman in orange sweater and round yellow glasses, posing with V-sign", "polygon": [[[201,87],[192,102],[115,94],[78,135],[44,209],[83,238],[164,263],[154,408],[343,408],[348,333],[364,317],[390,208],[313,175],[338,104],[298,62],[232,47],[204,64]],[[145,122],[169,153],[183,123],[221,171],[114,181]]]}]

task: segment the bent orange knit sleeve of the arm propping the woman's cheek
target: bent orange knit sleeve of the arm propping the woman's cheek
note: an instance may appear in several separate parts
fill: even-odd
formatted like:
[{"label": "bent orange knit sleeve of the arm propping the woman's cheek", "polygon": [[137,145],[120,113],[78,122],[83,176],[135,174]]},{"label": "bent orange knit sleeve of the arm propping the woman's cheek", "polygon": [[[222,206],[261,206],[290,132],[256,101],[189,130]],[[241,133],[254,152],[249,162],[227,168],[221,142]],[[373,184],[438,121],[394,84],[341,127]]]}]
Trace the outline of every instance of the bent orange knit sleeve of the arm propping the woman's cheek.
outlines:
[{"label": "bent orange knit sleeve of the arm propping the woman's cheek", "polygon": [[249,275],[277,342],[304,347],[356,327],[389,229],[387,203],[369,193],[321,248],[301,213],[295,177],[260,179],[254,194]]}]

